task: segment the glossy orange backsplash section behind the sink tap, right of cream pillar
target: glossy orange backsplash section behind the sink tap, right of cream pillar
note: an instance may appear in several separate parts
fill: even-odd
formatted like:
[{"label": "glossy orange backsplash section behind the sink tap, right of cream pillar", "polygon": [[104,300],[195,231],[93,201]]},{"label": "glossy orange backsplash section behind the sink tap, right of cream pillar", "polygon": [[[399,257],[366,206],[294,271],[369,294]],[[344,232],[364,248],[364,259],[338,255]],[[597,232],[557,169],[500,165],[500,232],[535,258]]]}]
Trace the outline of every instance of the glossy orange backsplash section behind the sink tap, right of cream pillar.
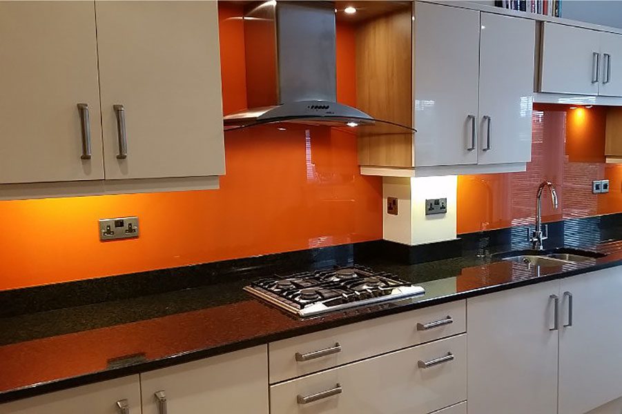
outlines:
[{"label": "glossy orange backsplash section behind the sink tap, right of cream pillar", "polygon": [[[525,172],[458,177],[458,233],[533,223],[544,179],[559,196],[558,210],[544,196],[545,221],[621,212],[622,166],[605,164],[606,110],[536,104]],[[610,193],[592,194],[594,179],[609,179]]]}]

